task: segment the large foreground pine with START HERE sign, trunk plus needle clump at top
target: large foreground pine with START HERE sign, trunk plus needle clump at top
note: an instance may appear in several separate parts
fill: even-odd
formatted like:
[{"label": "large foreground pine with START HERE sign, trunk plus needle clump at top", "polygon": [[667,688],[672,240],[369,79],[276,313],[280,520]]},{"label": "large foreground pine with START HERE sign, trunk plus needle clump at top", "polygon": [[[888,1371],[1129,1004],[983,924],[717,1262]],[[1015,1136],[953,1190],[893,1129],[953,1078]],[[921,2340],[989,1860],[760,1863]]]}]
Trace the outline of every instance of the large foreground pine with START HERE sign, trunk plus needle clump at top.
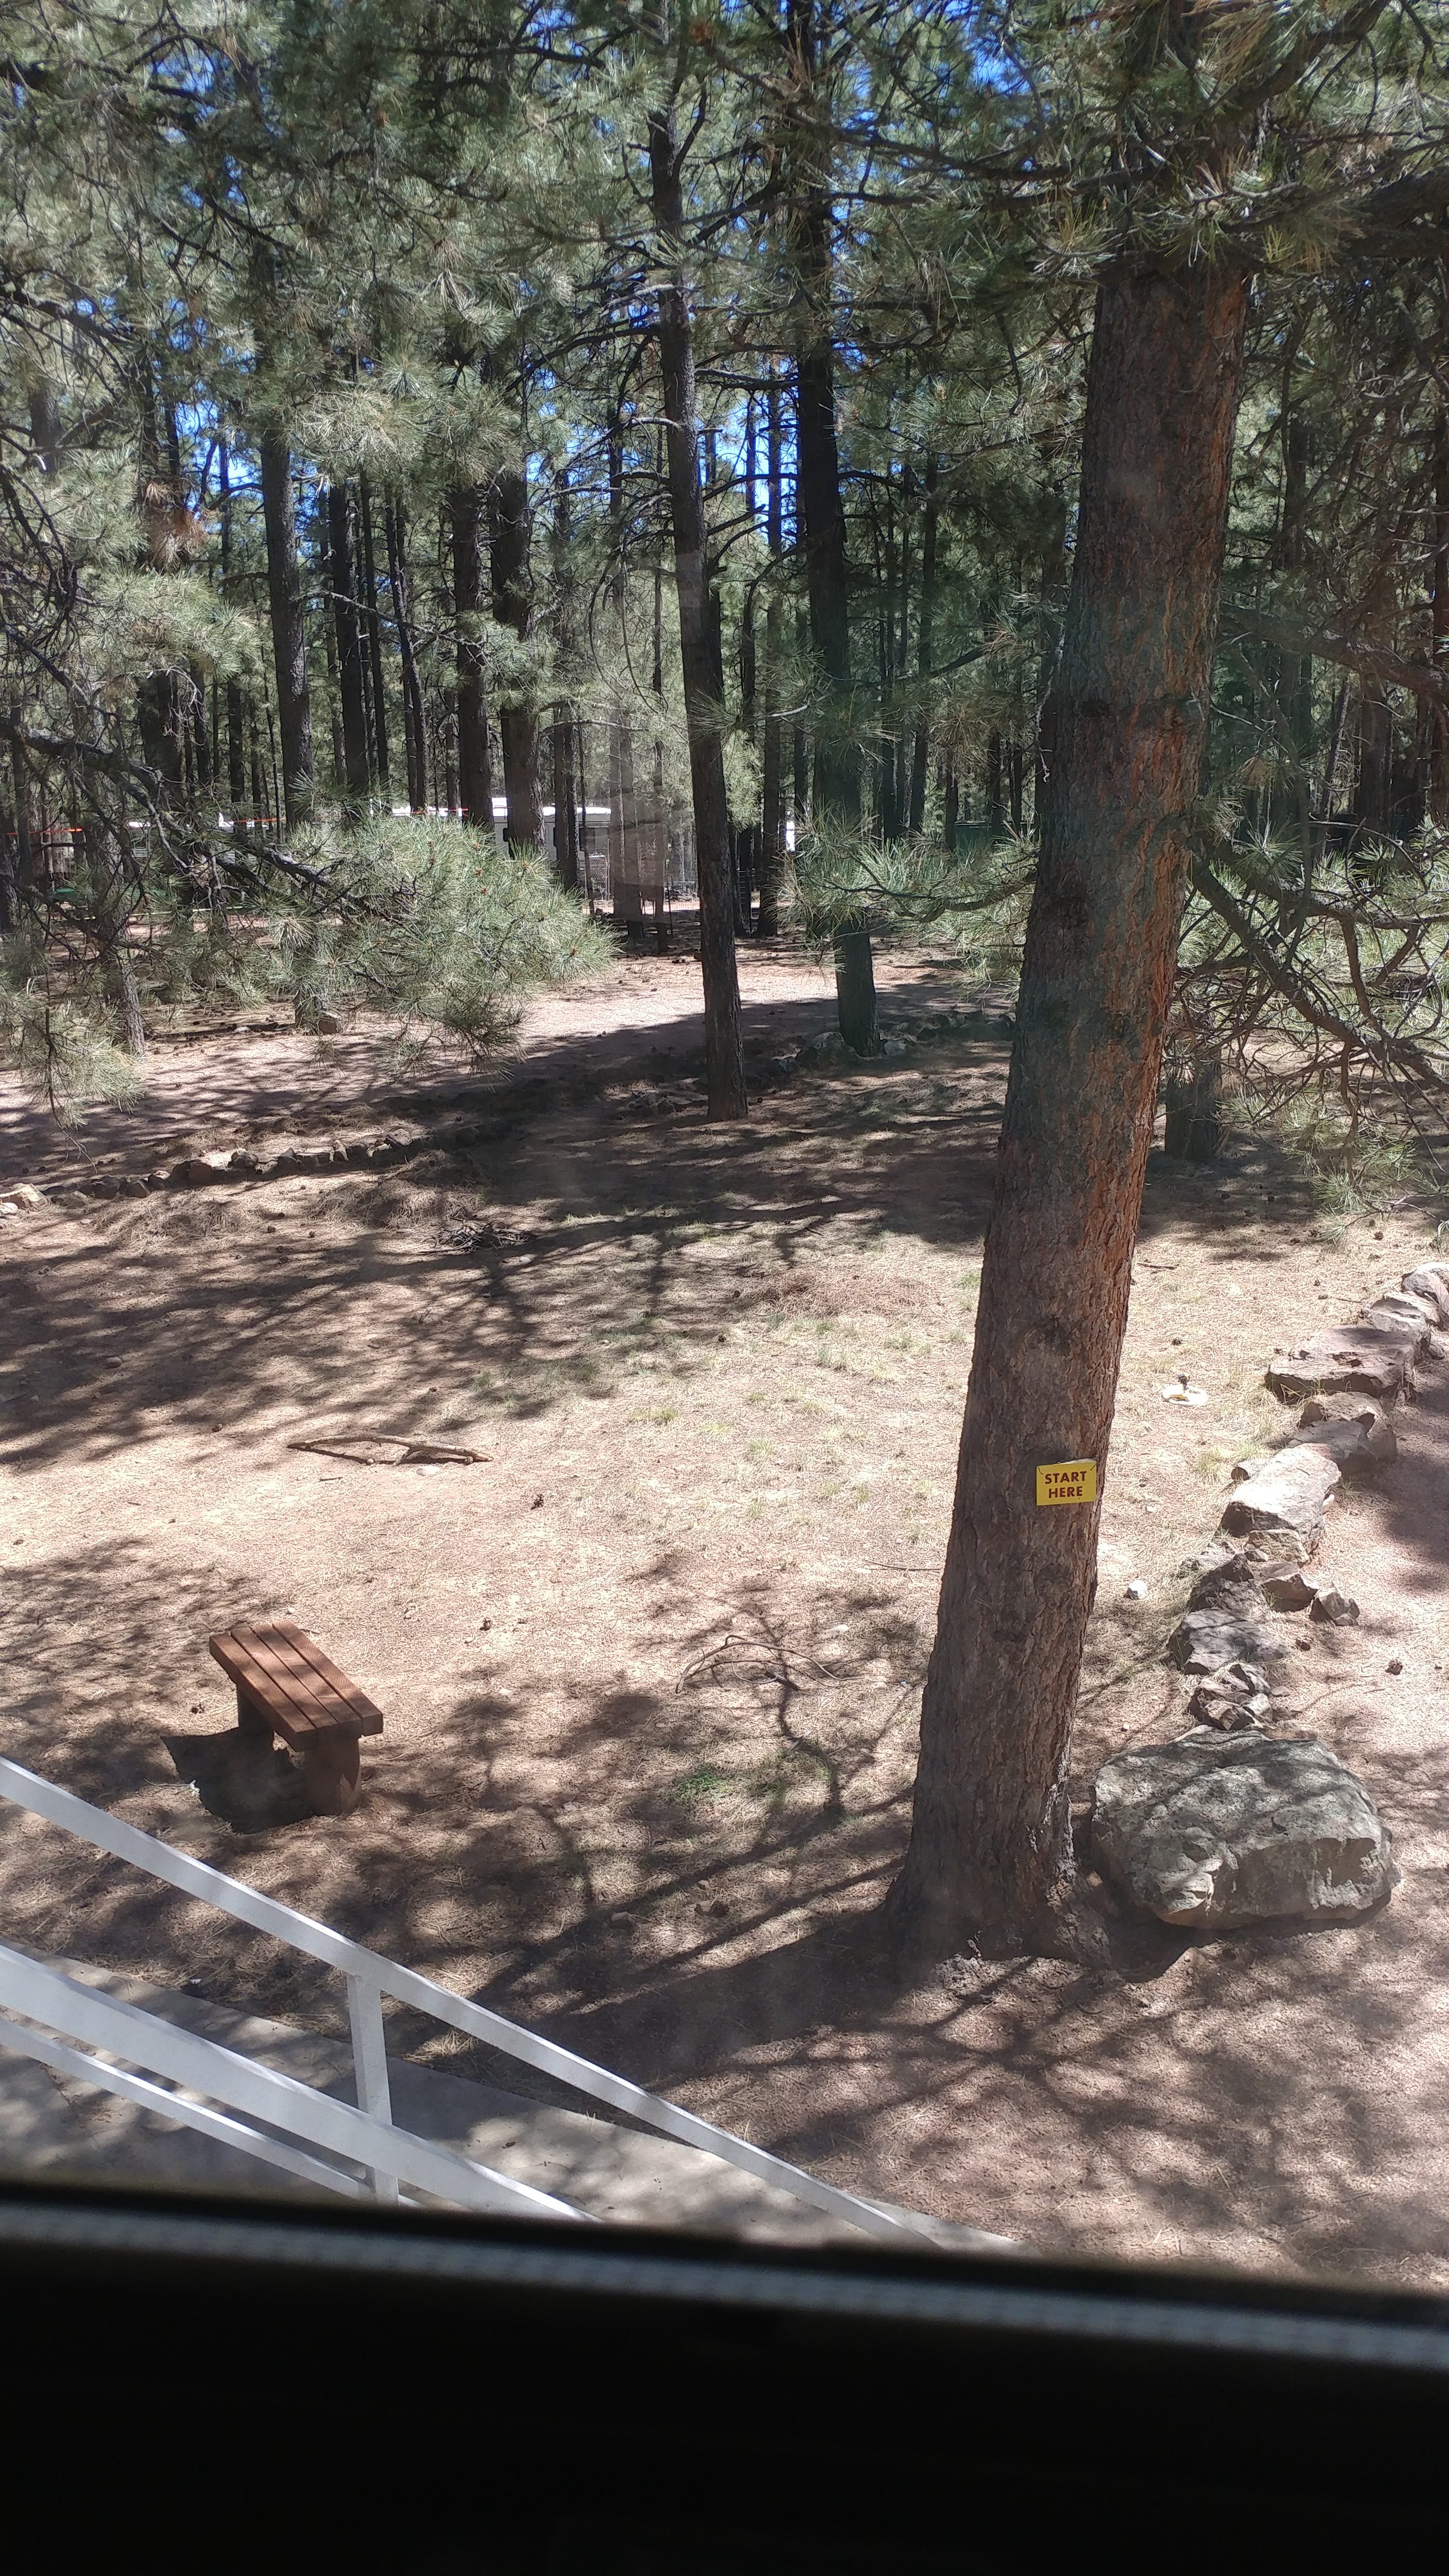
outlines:
[{"label": "large foreground pine with START HERE sign, trunk plus needle clump at top", "polygon": [[[1292,10],[1230,39],[1207,13],[1142,8],[1080,39],[1101,283],[1078,538],[915,1816],[890,1906],[897,1935],[933,1953],[967,1937],[1093,1947],[1073,1906],[1067,1759],[1101,1502],[1042,1504],[1036,1468],[1091,1461],[1098,1494],[1106,1473],[1204,775],[1248,294],[1271,260],[1263,198],[1305,234],[1315,211],[1356,245],[1397,234],[1403,258],[1434,255],[1449,201],[1418,111],[1400,93],[1385,126],[1359,85],[1382,15],[1374,0],[1328,26]],[[1026,13],[1016,23],[1024,46],[1044,41]],[[1036,59],[1031,100],[1060,95],[1060,59],[1055,72]],[[1315,162],[1325,131],[1333,209]],[[1065,144],[1036,129],[1031,155],[1049,147],[1080,173]],[[1207,240],[1196,188],[1217,201]]]}]

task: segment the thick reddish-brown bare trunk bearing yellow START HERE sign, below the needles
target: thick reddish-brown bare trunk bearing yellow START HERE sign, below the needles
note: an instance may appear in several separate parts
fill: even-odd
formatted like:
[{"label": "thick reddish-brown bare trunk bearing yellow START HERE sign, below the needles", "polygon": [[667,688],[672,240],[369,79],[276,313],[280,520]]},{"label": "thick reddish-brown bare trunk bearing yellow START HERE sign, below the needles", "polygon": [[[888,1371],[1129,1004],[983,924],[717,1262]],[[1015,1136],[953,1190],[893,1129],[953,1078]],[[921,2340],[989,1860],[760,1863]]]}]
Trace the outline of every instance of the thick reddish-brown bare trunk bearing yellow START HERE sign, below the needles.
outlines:
[{"label": "thick reddish-brown bare trunk bearing yellow START HERE sign, below the needles", "polygon": [[[1073,1942],[1067,1754],[1212,688],[1248,281],[1098,289],[1078,549],[897,1927]],[[1065,1917],[1065,1924],[1062,1924]]]}]

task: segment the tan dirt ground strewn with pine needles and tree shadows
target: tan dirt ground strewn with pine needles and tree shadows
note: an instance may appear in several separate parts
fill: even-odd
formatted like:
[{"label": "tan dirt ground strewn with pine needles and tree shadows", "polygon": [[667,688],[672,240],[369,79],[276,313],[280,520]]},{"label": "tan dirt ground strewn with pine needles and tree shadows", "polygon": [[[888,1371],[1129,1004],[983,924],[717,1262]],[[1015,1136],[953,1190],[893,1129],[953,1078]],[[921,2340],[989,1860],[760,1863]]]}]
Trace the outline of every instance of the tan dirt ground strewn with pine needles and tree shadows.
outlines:
[{"label": "tan dirt ground strewn with pine needles and tree shadows", "polygon": [[[155,1190],[0,1226],[15,1759],[835,2182],[1047,2251],[1449,2285],[1449,1365],[1328,1515],[1364,1605],[1276,1728],[1364,1777],[1403,1886],[1359,1929],[1163,1940],[1127,1973],[957,1960],[874,1909],[910,1816],[1008,1023],[882,961],[905,1056],[771,1069],[833,1023],[743,956],[748,1128],[706,1128],[699,976],[549,997],[480,1084],[382,1033],[157,1048],[129,1115],[0,1103],[5,1182],[436,1123],[389,1172]],[[446,1121],[482,1136],[449,1146]],[[1163,1664],[1263,1365],[1431,1247],[1325,1226],[1253,1144],[1152,1157],[1075,1749],[1186,1723]],[[1160,1396],[1178,1370],[1209,1404]],[[387,1466],[351,1440],[449,1440]],[[299,1443],[333,1443],[302,1448]],[[1127,1602],[1129,1579],[1147,1582]],[[351,1819],[240,1757],[206,1636],[294,1615],[387,1710]],[[1403,1667],[1403,1669],[1395,1669]],[[320,1971],[77,1844],[0,1829],[23,1940],[345,2027]],[[459,2071],[482,2053],[400,2017]],[[516,2071],[508,2074],[516,2081]]]}]

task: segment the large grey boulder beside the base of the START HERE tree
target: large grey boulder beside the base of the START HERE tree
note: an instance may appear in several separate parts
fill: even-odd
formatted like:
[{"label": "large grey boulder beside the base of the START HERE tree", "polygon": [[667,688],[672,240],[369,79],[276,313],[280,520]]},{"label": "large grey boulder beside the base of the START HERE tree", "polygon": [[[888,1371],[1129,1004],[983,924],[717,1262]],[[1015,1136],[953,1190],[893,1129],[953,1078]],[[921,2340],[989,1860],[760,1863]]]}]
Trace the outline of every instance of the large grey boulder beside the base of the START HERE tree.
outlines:
[{"label": "large grey boulder beside the base of the START HERE tree", "polygon": [[1397,1886],[1374,1801],[1312,1739],[1194,1726],[1116,1754],[1091,1839],[1104,1875],[1183,1929],[1356,1922]]}]

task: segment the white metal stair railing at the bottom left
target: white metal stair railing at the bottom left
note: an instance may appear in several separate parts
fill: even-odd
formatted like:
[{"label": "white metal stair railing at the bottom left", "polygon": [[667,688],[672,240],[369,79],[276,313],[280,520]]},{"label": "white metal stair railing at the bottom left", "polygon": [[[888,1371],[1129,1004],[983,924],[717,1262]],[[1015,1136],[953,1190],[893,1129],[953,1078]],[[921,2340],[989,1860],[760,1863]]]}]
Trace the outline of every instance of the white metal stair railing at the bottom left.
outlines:
[{"label": "white metal stair railing at the bottom left", "polygon": [[[134,1824],[121,1824],[119,1816],[108,1816],[101,1806],[88,1806],[85,1798],[57,1788],[54,1780],[41,1780],[39,1772],[23,1770],[21,1762],[0,1759],[0,1801],[23,1806],[31,1816],[44,1816],[46,1824],[57,1824],[101,1852],[129,1860],[186,1896],[199,1896],[201,1904],[250,1924],[255,1932],[271,1932],[291,1950],[304,1950],[327,1968],[338,1968],[348,1986],[358,2099],[356,2110],[348,2102],[335,2102],[333,2094],[317,2092],[312,2084],[299,2084],[294,2076],[258,2066],[255,2058],[222,2048],[217,2040],[178,2030],[152,2012],[121,2004],[116,1996],[95,1986],[83,1986],[57,1968],[5,1945],[0,1945],[3,2048],[21,2050],[57,2071],[80,2074],[90,2084],[142,2102],[147,2110],[165,2112],[168,2120],[178,2120],[183,2128],[196,2128],[224,2146],[240,2146],[250,2156],[260,2156],[307,2182],[322,2182],[335,2192],[353,2197],[366,2192],[384,2202],[425,2192],[433,2200],[451,2200],[477,2210],[583,2218],[585,2213],[575,2210],[567,2200],[539,2192],[511,2174],[498,2174],[492,2166],[474,2164],[469,2156],[454,2154],[454,2148],[394,2125],[387,2081],[387,2027],[382,2020],[382,1996],[389,1994],[394,2002],[413,2004],[418,2012],[438,2022],[451,2022],[454,2030],[464,2030],[474,2040],[485,2040],[487,2048],[518,2058],[536,2074],[570,2084],[575,2092],[608,2105],[608,2110],[629,2112],[629,2117],[660,2130],[660,2136],[678,2138],[681,2146],[696,2146],[737,2166],[737,2172],[753,2174],[758,2182],[773,2182],[776,2190],[810,2202],[815,2210],[825,2210],[830,2218],[846,2218],[871,2236],[895,2241],[918,2244],[923,2236],[931,2236],[926,2221],[915,2221],[910,2213],[882,2210],[853,2192],[835,2190],[833,2182],[820,2182],[817,2174],[807,2174],[797,2164],[750,2146],[748,2138],[735,2138],[727,2128],[714,2128],[712,2120],[699,2120],[696,2112],[681,2110],[676,2102],[663,2102],[639,2084],[629,2084],[627,2076],[608,2074],[606,2066],[578,2058],[570,2048],[559,2048],[557,2040],[521,2030],[518,2022],[508,2022],[485,2004],[469,2004],[431,1976],[400,1968],[397,1960],[382,1958],[379,1950],[366,1950],[343,1932],[333,1932],[330,1924],[312,1922],[309,1914],[297,1914],[291,1906],[278,1904],[276,1896],[263,1896],[258,1888],[211,1870],[204,1860],[193,1860],[191,1852],[173,1852],[155,1834],[142,1834]],[[8,2017],[10,2012],[21,2012],[26,2025],[34,2022],[41,2027],[23,2027]],[[106,2056],[95,2056],[93,2050],[103,2050]],[[124,2063],[108,2063],[113,2058]],[[170,2092],[168,2084],[152,2084],[147,2074],[134,2074],[131,2069],[160,2074],[168,2084],[186,2087],[186,2092]],[[204,2099],[188,2099],[191,2094],[201,2094]],[[209,2107],[217,2102],[227,2105],[227,2110]],[[229,2117],[232,2112],[242,2117]],[[304,2146],[289,2141],[304,2141]],[[322,2154],[307,2154],[307,2148],[320,2148]]]}]

